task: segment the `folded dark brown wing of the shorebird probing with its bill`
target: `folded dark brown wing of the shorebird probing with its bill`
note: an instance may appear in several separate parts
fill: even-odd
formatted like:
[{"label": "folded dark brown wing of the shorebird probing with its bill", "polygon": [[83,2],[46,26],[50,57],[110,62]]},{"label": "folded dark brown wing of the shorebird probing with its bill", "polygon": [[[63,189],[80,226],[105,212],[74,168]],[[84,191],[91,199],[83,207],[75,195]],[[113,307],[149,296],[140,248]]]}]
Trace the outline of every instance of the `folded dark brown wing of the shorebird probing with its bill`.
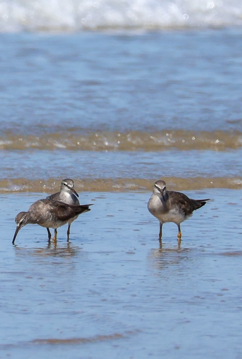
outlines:
[{"label": "folded dark brown wing of the shorebird probing with its bill", "polygon": [[91,205],[68,205],[61,201],[51,201],[50,206],[57,218],[62,221],[66,221],[78,214],[90,211],[89,206]]}]

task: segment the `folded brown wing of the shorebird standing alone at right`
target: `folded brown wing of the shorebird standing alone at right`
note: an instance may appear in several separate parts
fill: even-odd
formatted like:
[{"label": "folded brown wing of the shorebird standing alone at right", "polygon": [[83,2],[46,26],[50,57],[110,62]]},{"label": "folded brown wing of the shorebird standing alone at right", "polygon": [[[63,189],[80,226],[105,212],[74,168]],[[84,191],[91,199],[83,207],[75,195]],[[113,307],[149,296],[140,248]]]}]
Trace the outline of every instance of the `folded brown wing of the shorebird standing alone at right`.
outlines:
[{"label": "folded brown wing of the shorebird standing alone at right", "polygon": [[174,208],[178,207],[186,215],[192,214],[192,212],[197,209],[194,200],[191,200],[184,193],[176,191],[167,191],[168,194],[168,203],[169,207]]}]

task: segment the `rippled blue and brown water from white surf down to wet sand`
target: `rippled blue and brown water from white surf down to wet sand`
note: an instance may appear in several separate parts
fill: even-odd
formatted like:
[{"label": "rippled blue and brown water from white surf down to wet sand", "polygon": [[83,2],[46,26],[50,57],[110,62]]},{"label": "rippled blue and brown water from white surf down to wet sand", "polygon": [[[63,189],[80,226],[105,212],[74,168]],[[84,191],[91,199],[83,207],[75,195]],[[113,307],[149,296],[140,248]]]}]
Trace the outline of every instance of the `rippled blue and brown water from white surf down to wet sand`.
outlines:
[{"label": "rippled blue and brown water from white surf down to wet sand", "polygon": [[0,191],[240,188],[241,39],[0,34]]}]

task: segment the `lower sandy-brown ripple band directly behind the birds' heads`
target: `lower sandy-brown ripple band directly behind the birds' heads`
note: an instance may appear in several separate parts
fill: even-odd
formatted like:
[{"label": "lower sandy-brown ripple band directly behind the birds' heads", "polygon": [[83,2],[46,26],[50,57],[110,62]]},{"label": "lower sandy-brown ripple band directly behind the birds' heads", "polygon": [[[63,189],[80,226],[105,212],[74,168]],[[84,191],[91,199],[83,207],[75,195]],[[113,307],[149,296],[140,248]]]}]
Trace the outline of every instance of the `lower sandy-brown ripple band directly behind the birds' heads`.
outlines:
[{"label": "lower sandy-brown ripple band directly behind the birds' heads", "polygon": [[[242,177],[162,177],[162,179],[169,184],[169,189],[173,191],[202,190],[206,188],[239,189],[242,187]],[[140,178],[83,178],[78,180],[74,178],[77,192],[151,191],[156,180],[157,178],[149,180]],[[2,179],[0,180],[0,193],[43,192],[43,194],[50,194],[59,190],[59,186],[59,178],[35,181],[27,178]]]}]

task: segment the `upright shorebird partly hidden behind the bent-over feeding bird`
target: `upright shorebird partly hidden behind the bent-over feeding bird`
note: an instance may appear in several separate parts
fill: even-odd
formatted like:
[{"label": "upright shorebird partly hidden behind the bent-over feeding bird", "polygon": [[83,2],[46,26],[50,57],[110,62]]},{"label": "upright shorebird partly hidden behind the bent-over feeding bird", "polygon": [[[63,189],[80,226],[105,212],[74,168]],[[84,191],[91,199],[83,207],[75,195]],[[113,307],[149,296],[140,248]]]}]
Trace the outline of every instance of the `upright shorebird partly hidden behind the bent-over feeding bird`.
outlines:
[{"label": "upright shorebird partly hidden behind the bent-over feeding bird", "polygon": [[[54,200],[54,201],[61,201],[66,204],[71,205],[79,205],[78,198],[79,195],[74,190],[74,181],[71,180],[71,178],[66,178],[61,182],[61,188],[60,192],[56,192],[53,195],[47,196],[47,199]],[[67,230],[67,241],[69,242],[69,236],[70,236],[70,227],[71,223],[78,218],[78,215],[74,218],[70,219],[68,222],[68,230]],[[51,238],[50,230],[47,228],[48,237]]]}]

